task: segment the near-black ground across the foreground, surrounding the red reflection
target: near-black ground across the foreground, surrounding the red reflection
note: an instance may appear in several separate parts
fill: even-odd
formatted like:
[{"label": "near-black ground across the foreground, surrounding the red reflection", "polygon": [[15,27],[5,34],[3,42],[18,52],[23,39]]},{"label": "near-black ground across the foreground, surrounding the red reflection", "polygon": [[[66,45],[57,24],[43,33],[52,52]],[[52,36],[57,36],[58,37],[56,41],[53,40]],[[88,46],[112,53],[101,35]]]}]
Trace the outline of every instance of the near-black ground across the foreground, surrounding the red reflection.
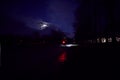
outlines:
[{"label": "near-black ground across the foreground, surrounding the red reflection", "polygon": [[[114,47],[72,47],[58,45],[4,45],[2,68],[4,79],[108,79],[119,74],[120,50]],[[62,63],[58,57],[67,53]],[[115,75],[113,77],[113,75]]]}]

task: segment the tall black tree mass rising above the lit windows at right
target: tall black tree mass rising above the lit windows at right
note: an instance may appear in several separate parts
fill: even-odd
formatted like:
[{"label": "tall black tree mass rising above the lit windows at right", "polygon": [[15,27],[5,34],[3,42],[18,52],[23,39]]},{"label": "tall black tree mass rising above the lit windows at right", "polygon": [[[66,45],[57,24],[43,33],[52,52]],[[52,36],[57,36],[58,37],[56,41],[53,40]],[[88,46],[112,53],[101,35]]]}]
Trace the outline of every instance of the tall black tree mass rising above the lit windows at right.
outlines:
[{"label": "tall black tree mass rising above the lit windows at right", "polygon": [[119,33],[119,0],[80,0],[78,3],[74,23],[77,40]]}]

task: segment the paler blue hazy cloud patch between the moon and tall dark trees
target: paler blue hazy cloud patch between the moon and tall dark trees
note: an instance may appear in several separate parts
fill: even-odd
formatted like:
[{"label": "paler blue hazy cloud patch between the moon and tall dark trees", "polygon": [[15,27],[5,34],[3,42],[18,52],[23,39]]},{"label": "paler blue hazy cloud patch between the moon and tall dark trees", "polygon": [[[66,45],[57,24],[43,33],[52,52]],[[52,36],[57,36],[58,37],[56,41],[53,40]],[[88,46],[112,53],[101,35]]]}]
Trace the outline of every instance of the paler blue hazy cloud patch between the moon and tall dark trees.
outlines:
[{"label": "paler blue hazy cloud patch between the moon and tall dark trees", "polygon": [[48,17],[52,23],[55,23],[64,32],[69,33],[69,36],[73,36],[74,12],[76,8],[77,3],[73,0],[50,0]]}]

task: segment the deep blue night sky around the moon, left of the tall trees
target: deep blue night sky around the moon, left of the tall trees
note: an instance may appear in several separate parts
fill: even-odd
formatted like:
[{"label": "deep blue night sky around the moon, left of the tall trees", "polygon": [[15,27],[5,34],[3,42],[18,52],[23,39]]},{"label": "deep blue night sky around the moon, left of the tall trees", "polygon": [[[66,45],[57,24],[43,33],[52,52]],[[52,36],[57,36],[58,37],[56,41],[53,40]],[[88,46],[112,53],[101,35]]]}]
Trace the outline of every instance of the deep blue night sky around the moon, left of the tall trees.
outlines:
[{"label": "deep blue night sky around the moon, left of the tall trees", "polygon": [[2,8],[9,16],[25,22],[33,29],[39,30],[37,23],[42,20],[52,23],[72,37],[77,6],[75,0],[18,0],[4,1]]}]

